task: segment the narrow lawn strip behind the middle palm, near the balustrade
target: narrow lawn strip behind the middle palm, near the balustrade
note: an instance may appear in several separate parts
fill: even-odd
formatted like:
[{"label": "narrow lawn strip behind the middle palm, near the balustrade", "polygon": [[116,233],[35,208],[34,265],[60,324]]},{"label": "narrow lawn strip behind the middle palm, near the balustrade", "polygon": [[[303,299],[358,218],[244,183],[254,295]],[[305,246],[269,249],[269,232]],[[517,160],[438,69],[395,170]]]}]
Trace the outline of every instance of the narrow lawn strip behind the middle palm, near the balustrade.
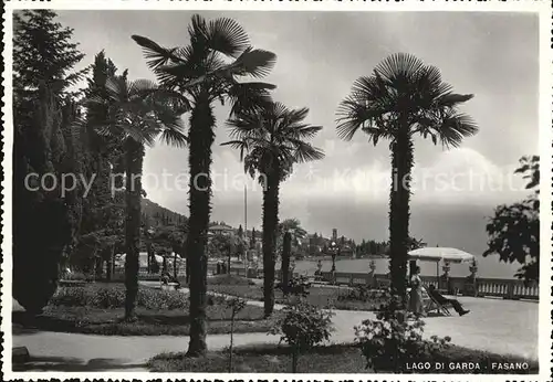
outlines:
[{"label": "narrow lawn strip behind the middle palm, near the balustrade", "polygon": [[[263,300],[263,289],[259,285],[217,284],[208,285],[208,289],[230,296],[240,296],[250,300]],[[342,310],[375,310],[383,303],[379,298],[364,301],[343,299],[348,290],[347,288],[311,287],[309,289],[307,301],[321,308],[333,307],[334,309]],[[338,299],[340,297],[342,299]],[[274,298],[276,304],[288,304],[290,301],[280,289],[274,289]],[[293,299],[293,297],[291,298]]]}]

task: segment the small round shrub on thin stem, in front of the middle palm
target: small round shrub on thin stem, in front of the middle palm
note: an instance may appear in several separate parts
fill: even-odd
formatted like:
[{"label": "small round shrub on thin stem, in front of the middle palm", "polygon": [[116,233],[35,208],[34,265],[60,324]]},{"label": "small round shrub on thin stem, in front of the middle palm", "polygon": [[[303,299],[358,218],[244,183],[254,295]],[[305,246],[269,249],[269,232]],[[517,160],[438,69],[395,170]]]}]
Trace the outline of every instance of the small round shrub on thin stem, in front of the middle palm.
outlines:
[{"label": "small round shrub on thin stem, in front of the middle palm", "polygon": [[281,317],[270,332],[280,335],[281,341],[292,347],[292,372],[298,371],[301,352],[330,339],[333,315],[332,311],[320,309],[305,300],[282,309]]}]

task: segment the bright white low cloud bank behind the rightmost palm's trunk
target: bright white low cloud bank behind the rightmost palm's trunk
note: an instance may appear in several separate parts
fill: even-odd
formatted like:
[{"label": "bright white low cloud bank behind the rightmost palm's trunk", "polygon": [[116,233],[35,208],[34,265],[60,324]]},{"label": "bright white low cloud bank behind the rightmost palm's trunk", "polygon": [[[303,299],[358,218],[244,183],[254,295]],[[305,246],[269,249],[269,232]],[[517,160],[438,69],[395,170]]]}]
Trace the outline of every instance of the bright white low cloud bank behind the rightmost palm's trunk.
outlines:
[{"label": "bright white low cloud bank behind the rightmost palm's trunk", "polygon": [[[345,153],[347,157],[352,153]],[[469,149],[442,151],[435,163],[413,170],[413,202],[438,204],[494,204],[523,198],[528,191],[517,163],[499,167]],[[316,167],[314,167],[316,170]],[[309,179],[309,171],[303,176]],[[344,166],[314,172],[309,182],[289,183],[283,193],[291,198],[320,200],[345,198],[353,203],[372,204],[388,200],[392,168],[379,159],[365,166]],[[293,197],[292,197],[293,195]]]}]

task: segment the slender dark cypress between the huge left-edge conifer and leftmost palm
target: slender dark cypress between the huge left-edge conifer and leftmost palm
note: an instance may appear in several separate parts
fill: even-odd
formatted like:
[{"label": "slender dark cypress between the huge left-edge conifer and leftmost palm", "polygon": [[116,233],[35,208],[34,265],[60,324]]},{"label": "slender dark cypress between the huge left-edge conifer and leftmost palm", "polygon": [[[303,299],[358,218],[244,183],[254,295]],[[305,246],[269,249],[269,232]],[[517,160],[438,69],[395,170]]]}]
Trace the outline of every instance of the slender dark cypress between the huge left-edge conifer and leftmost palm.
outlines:
[{"label": "slender dark cypress between the huge left-edge conifer and leftmost palm", "polygon": [[107,118],[108,94],[105,85],[108,77],[116,75],[117,67],[102,51],[95,55],[90,68],[92,75],[87,78],[84,95],[87,98],[102,98],[105,103],[90,105],[90,124],[83,125],[80,131],[85,148],[83,171],[86,179],[94,181],[83,199],[77,251],[74,253],[76,262],[72,262],[72,265],[94,259],[94,254],[100,253],[101,261],[107,263],[109,278],[115,246],[123,242],[124,192],[119,191],[124,171],[123,150],[118,139],[101,136],[93,127]]}]

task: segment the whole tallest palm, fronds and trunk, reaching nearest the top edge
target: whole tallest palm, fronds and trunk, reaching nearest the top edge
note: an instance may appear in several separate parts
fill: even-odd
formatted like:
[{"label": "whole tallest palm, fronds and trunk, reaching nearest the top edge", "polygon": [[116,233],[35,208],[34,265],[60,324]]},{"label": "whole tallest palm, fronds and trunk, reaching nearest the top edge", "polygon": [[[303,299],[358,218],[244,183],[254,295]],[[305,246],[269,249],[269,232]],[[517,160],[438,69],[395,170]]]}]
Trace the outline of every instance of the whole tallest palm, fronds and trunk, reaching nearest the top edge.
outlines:
[{"label": "whole tallest palm, fronds and trunk, reaching nearest the top edge", "polygon": [[232,19],[206,22],[194,15],[188,29],[189,44],[166,49],[154,41],[133,35],[143,47],[148,65],[160,84],[179,92],[190,105],[189,167],[190,219],[187,250],[190,273],[190,342],[188,357],[202,356],[206,343],[207,232],[211,200],[211,145],[216,120],[213,104],[230,102],[230,114],[252,112],[270,100],[273,85],[241,83],[243,76],[262,77],[276,56],[250,46],[248,35]]}]

